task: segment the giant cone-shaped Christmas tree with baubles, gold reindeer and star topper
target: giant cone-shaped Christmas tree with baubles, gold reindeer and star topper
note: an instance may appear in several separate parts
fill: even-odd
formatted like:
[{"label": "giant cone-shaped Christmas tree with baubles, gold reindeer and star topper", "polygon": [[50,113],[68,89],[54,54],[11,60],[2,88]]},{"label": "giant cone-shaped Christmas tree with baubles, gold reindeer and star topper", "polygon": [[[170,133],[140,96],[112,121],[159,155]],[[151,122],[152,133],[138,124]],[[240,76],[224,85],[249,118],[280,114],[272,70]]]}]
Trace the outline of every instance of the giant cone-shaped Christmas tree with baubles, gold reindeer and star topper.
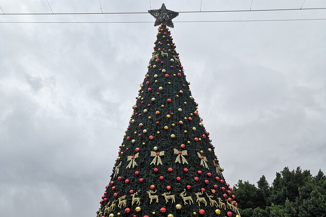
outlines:
[{"label": "giant cone-shaped Christmas tree with baubles, gold reindeer and star topper", "polygon": [[97,217],[240,217],[168,28],[178,13],[149,13],[153,55]]}]

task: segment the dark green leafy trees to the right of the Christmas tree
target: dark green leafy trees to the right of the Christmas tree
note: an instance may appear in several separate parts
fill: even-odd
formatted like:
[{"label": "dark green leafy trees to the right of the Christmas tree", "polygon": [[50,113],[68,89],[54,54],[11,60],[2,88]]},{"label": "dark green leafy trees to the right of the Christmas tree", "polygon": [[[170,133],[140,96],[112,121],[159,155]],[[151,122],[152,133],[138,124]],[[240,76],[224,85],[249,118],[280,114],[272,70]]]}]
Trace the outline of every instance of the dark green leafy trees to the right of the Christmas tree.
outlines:
[{"label": "dark green leafy trees to the right of the Christmas tree", "polygon": [[326,217],[326,177],[285,167],[271,186],[263,175],[257,186],[239,180],[233,192],[241,217]]}]

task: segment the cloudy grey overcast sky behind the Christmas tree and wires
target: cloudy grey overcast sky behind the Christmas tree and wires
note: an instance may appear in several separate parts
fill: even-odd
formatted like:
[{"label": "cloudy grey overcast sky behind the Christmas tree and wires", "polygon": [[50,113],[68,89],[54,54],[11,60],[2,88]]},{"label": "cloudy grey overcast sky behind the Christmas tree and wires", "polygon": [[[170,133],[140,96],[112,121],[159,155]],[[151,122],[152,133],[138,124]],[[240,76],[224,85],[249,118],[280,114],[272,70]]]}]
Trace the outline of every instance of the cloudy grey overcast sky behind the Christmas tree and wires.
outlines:
[{"label": "cloudy grey overcast sky behind the Christmas tree and wires", "polygon": [[[152,0],[152,9],[163,1]],[[253,0],[251,9],[303,0]],[[49,0],[55,13],[100,12],[98,0]],[[202,0],[247,10],[251,0]],[[103,12],[149,0],[101,0]],[[200,0],[166,0],[198,11]],[[46,0],[0,0],[4,13],[49,13]],[[303,8],[326,7],[306,0]],[[1,11],[0,11],[1,13]],[[180,14],[181,20],[326,18],[325,10]],[[3,16],[0,21],[153,21],[143,15]],[[326,172],[326,20],[174,23],[203,124],[224,176],[271,183],[285,166]],[[157,28],[0,23],[0,216],[95,217],[152,56]]]}]

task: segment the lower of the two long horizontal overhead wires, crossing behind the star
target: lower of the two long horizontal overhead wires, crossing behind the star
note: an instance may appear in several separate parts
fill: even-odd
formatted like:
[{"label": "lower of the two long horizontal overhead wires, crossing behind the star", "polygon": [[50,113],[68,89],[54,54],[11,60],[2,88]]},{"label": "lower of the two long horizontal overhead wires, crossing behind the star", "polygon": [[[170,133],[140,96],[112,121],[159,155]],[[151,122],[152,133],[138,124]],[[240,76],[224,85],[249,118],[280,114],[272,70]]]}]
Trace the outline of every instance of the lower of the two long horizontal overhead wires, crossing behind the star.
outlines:
[{"label": "lower of the two long horizontal overhead wires, crossing behind the star", "polygon": [[[244,20],[192,20],[192,21],[173,21],[174,23],[192,22],[264,22],[264,21],[304,21],[304,20],[326,20],[326,18],[307,18],[307,19],[244,19]],[[153,21],[0,21],[0,23],[153,23]]]}]

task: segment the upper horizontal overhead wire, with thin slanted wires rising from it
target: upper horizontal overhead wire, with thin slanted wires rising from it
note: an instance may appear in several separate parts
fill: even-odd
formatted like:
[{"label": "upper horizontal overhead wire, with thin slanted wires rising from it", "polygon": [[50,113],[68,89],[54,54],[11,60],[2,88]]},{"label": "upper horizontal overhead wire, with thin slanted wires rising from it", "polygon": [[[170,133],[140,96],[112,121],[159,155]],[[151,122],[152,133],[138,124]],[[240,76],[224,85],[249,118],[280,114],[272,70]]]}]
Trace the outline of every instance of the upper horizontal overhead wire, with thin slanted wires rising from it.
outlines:
[{"label": "upper horizontal overhead wire, with thin slanted wires rising from it", "polygon": [[[178,13],[226,13],[226,12],[262,12],[262,11],[303,11],[303,10],[325,10],[321,8],[284,8],[284,9],[257,9],[257,10],[221,10],[221,11],[180,11]],[[51,9],[52,11],[52,9]],[[95,14],[148,14],[148,12],[77,12],[77,13],[7,13],[0,15],[95,15]]]}]

